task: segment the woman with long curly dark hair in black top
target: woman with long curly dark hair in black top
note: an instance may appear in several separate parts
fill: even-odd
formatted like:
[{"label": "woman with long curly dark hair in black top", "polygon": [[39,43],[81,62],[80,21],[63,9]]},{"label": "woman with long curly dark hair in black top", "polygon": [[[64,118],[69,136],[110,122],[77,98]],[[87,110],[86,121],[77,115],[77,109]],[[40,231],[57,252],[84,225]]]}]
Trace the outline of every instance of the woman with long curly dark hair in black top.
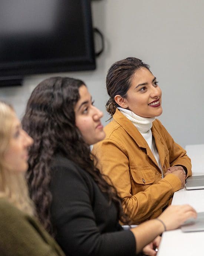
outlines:
[{"label": "woman with long curly dark hair in black top", "polygon": [[123,230],[118,221],[128,218],[121,198],[90,152],[90,145],[105,137],[102,115],[83,81],[52,77],[34,89],[22,124],[34,139],[27,180],[37,214],[66,255],[130,256],[142,248],[155,255],[157,236],[196,213],[188,205],[173,206],[155,220]]}]

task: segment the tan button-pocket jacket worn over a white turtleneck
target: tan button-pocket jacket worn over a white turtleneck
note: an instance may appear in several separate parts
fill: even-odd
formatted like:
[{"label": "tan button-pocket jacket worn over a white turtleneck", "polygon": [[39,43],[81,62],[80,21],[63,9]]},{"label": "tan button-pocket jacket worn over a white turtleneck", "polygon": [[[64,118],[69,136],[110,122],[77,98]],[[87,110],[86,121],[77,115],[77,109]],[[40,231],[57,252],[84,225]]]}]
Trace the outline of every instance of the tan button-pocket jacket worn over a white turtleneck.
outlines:
[{"label": "tan button-pocket jacket worn over a white turtleneck", "polygon": [[[152,151],[140,132],[118,109],[105,127],[106,138],[95,144],[92,153],[98,167],[108,175],[120,196],[124,211],[135,224],[156,218],[170,204],[172,195],[181,188],[178,177],[168,174],[164,179]],[[187,168],[192,175],[191,160],[186,151],[174,142],[158,119],[152,124],[162,170],[171,166]]]}]

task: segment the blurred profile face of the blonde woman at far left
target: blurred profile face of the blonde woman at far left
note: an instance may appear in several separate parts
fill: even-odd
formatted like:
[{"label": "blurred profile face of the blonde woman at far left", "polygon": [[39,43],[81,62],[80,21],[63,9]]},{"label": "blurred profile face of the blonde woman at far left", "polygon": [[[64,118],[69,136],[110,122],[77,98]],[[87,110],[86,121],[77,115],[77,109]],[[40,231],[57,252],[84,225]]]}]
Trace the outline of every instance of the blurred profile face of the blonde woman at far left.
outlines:
[{"label": "blurred profile face of the blonde woman at far left", "polygon": [[28,147],[33,139],[22,129],[19,119],[14,115],[9,147],[4,153],[4,160],[11,172],[26,172],[28,168]]}]

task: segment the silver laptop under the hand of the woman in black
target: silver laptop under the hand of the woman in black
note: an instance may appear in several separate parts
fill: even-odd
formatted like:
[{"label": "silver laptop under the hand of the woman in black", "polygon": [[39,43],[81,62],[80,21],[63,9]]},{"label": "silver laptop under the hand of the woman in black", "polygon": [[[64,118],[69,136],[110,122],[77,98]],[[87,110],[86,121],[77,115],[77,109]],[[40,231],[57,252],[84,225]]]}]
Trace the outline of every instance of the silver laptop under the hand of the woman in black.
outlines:
[{"label": "silver laptop under the hand of the woman in black", "polygon": [[204,231],[204,212],[198,212],[197,219],[190,218],[181,226],[183,232]]}]

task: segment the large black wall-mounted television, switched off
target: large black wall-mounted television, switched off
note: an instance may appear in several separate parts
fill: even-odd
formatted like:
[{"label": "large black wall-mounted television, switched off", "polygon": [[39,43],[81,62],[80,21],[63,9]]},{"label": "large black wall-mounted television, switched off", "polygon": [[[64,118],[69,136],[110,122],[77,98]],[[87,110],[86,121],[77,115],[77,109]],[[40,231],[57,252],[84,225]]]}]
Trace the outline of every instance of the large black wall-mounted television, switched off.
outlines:
[{"label": "large black wall-mounted television, switched off", "polygon": [[91,0],[0,0],[0,85],[93,70]]}]

